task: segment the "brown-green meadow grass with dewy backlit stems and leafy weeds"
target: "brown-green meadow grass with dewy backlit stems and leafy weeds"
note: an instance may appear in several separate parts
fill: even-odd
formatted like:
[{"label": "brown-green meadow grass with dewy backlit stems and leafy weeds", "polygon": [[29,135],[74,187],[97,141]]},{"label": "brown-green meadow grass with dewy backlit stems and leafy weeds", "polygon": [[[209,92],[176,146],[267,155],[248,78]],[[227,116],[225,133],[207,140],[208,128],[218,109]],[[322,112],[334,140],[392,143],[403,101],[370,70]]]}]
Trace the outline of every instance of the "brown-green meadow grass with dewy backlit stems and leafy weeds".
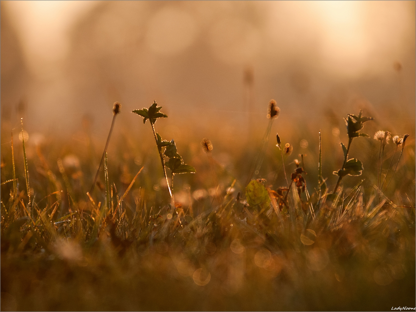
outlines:
[{"label": "brown-green meadow grass with dewy backlit stems and leafy weeds", "polygon": [[[411,154],[406,167],[400,163],[407,135],[399,134],[401,154],[384,168],[384,180],[390,180],[381,192],[383,164],[375,175],[357,158],[348,159],[353,139],[375,141],[359,132],[371,117],[349,115],[349,141],[339,146],[343,164],[334,171],[338,182],[331,193],[322,176],[330,162],[322,159],[321,133],[319,161],[306,167],[303,154],[301,161],[288,162],[293,147],[283,147],[283,137],[277,135],[277,150],[269,144],[280,111],[276,102],[269,103],[260,147],[247,147],[253,164],[244,156],[246,165],[234,173],[216,163],[207,139],[201,151],[208,158],[188,151],[180,156],[175,141],[155,131],[156,119],[167,117],[159,111],[154,102],[134,113],[151,123],[162,171],[151,153],[140,166],[121,166],[123,156],[108,154],[111,130],[102,173],[101,163],[94,168],[85,155],[90,149],[79,150],[78,158],[59,155],[62,143],[36,146],[36,157],[28,159],[23,132],[22,149],[13,141],[10,151],[2,148],[1,310],[415,306],[415,208],[408,191],[397,189],[403,170],[414,174]],[[376,159],[377,146],[359,153]],[[200,165],[195,169],[183,159],[198,159]],[[398,166],[401,174],[395,175]],[[268,171],[279,179],[270,179]],[[193,175],[179,176],[173,189],[180,173]],[[396,189],[387,193],[391,181]]]}]

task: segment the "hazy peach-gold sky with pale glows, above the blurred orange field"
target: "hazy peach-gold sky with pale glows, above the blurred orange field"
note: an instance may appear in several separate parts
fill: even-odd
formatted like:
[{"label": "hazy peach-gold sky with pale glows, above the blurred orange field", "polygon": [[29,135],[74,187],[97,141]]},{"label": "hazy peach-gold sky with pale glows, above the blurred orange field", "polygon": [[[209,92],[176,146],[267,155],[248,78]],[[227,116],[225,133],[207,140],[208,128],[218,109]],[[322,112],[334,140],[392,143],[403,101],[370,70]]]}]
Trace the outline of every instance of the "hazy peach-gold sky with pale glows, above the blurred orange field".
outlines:
[{"label": "hazy peach-gold sky with pale glows, above the blurred orange field", "polygon": [[340,86],[344,103],[398,104],[395,62],[401,105],[414,110],[414,1],[2,1],[2,9],[30,77],[10,99],[2,85],[2,105],[20,95],[37,118],[40,109],[79,119],[115,100],[130,110],[154,98],[172,110],[235,110],[246,68],[259,111],[272,97],[322,106]]}]

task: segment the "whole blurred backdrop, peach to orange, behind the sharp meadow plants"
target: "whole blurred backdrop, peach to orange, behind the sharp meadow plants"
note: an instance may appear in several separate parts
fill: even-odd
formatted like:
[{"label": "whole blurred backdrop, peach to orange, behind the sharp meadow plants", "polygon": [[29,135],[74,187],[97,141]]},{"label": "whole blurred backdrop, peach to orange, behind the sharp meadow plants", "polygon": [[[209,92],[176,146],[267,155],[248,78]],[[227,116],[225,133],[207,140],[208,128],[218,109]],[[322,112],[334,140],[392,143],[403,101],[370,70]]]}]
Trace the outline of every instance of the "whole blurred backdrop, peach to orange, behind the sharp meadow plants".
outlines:
[{"label": "whole blurred backdrop, peach to orange, behind the sharp meadow plants", "polygon": [[[361,108],[375,117],[370,136],[389,130],[414,142],[415,2],[1,2],[7,141],[23,117],[29,144],[82,140],[80,131],[104,142],[118,101],[114,136],[127,139],[109,151],[116,141],[146,146],[151,128],[130,111],[156,100],[169,116],[156,124],[163,139],[193,151],[207,137],[232,171],[235,155],[260,143],[272,98],[281,109],[272,137],[294,157],[308,154],[314,171],[319,129],[324,157],[342,164],[342,117]],[[277,153],[274,140],[269,149]],[[378,159],[363,158],[364,167]],[[326,170],[335,181],[336,168]]]}]

